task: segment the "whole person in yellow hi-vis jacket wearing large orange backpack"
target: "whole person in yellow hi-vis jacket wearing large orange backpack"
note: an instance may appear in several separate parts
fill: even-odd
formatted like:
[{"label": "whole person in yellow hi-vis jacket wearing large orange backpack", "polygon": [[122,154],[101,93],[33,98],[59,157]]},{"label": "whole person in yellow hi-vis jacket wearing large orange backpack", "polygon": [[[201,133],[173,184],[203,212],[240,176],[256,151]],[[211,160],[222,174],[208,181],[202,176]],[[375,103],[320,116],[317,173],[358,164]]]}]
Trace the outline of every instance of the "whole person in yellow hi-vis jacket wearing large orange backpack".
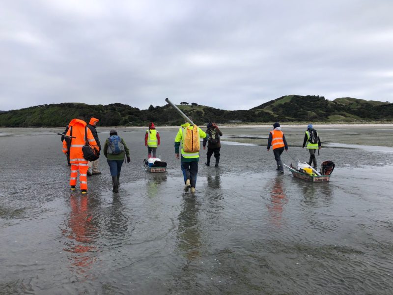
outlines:
[{"label": "whole person in yellow hi-vis jacket wearing large orange backpack", "polygon": [[[192,118],[190,118],[192,120]],[[195,192],[197,185],[198,161],[200,139],[206,138],[206,133],[189,122],[180,125],[175,138],[175,155],[179,158],[179,148],[181,144],[181,170],[183,172],[185,191],[191,187],[191,192]]]}]

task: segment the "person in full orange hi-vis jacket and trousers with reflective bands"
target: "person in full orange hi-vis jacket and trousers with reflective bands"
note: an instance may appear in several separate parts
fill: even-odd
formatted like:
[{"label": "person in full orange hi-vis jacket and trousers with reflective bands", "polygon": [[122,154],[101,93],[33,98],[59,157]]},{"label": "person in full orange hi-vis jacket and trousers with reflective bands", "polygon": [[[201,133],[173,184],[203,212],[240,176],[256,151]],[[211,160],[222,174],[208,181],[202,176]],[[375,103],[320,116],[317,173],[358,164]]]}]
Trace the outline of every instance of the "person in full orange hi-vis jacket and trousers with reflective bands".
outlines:
[{"label": "person in full orange hi-vis jacket and trousers with reflective bands", "polygon": [[[86,122],[81,119],[72,119],[68,124],[69,129],[66,133],[68,136],[75,136],[76,138],[71,139],[70,146],[70,164],[71,164],[71,177],[70,186],[71,190],[75,190],[77,184],[77,176],[79,170],[79,182],[82,194],[87,192],[87,169],[88,161],[83,157],[82,147],[85,145],[84,134],[87,131],[87,141],[91,146],[96,146],[93,134],[90,129],[86,127]],[[63,142],[63,152],[67,153],[67,144]]]}]

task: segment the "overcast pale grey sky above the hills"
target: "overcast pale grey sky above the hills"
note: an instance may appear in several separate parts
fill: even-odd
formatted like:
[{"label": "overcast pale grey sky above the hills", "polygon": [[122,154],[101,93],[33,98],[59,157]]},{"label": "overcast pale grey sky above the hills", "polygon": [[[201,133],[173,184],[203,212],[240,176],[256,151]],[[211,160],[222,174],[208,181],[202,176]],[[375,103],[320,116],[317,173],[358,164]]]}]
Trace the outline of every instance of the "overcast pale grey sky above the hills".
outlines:
[{"label": "overcast pale grey sky above the hills", "polygon": [[393,102],[393,0],[2,0],[0,110]]}]

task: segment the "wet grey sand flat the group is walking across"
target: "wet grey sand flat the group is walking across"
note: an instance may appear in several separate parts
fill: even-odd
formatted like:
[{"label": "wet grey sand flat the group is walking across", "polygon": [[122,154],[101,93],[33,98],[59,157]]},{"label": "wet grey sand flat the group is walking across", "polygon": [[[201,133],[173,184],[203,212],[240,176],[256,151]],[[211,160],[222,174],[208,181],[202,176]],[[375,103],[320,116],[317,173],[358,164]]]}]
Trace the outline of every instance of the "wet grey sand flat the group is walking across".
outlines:
[{"label": "wet grey sand flat the group is walking across", "polygon": [[[119,193],[102,155],[87,195],[69,190],[62,129],[0,129],[0,294],[392,294],[393,128],[315,128],[330,182],[277,175],[270,126],[223,127],[220,168],[201,150],[195,195],[177,128],[157,127],[165,174],[143,167],[144,128],[118,128]],[[284,163],[308,160],[303,126],[282,129]]]}]

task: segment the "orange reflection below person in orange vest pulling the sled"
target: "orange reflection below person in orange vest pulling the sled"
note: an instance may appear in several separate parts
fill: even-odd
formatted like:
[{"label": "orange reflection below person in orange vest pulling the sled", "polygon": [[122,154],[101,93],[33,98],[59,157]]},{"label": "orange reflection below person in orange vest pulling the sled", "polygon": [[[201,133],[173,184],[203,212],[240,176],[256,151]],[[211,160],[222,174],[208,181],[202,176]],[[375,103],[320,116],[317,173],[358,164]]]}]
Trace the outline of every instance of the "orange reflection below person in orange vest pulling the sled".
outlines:
[{"label": "orange reflection below person in orange vest pulling the sled", "polygon": [[283,177],[278,176],[273,180],[273,187],[270,191],[270,204],[266,205],[270,221],[277,227],[282,225],[282,211],[284,205],[288,202],[285,192],[282,188]]}]

